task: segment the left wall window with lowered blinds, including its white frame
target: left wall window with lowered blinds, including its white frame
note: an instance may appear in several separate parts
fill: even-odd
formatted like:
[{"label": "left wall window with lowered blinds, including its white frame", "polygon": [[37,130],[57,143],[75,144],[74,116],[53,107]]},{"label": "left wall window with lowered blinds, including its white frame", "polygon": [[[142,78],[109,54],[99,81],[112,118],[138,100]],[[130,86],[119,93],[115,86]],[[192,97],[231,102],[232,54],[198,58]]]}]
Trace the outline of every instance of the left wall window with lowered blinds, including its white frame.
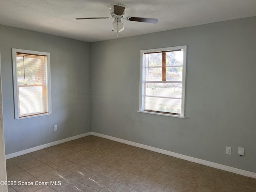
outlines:
[{"label": "left wall window with lowered blinds, including its white frame", "polygon": [[51,113],[50,53],[12,49],[15,118]]}]

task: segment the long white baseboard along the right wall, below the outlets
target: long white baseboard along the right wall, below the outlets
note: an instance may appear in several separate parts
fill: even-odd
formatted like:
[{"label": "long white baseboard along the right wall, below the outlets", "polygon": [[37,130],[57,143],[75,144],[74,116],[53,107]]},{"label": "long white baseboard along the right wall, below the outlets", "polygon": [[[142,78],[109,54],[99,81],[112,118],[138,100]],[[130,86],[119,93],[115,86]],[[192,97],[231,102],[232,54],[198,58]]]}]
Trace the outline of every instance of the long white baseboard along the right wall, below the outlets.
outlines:
[{"label": "long white baseboard along the right wall, below the outlets", "polygon": [[136,142],[132,142],[132,141],[128,141],[128,140],[124,140],[124,139],[120,139],[120,138],[116,138],[116,137],[112,137],[112,136],[108,136],[108,135],[104,135],[104,134],[100,134],[100,133],[91,132],[91,134],[94,135],[94,136],[110,139],[110,140],[117,141],[117,142],[120,142],[120,143],[132,145],[132,146],[135,146],[135,147],[147,149],[147,150],[158,152],[158,153],[161,153],[161,154],[165,154],[165,155],[173,156],[173,157],[176,157],[176,158],[184,159],[184,160],[187,160],[187,161],[191,161],[191,162],[199,163],[199,164],[202,164],[202,165],[210,166],[210,167],[213,167],[213,168],[221,169],[221,170],[224,170],[224,171],[240,174],[240,175],[251,177],[251,178],[256,178],[256,173],[254,173],[254,172],[250,172],[250,171],[246,171],[246,170],[242,170],[242,169],[238,169],[238,168],[234,168],[234,167],[230,167],[230,166],[226,166],[226,165],[222,165],[222,164],[218,164],[218,163],[214,163],[214,162],[210,162],[210,161],[206,161],[206,160],[202,160],[202,159],[198,159],[198,158],[194,158],[194,157],[190,157],[190,156],[186,156],[186,155],[182,155],[182,154],[178,154],[178,153],[174,153],[174,152],[163,150],[163,149],[158,149],[158,148],[155,148],[155,147],[139,144],[139,143],[136,143]]}]

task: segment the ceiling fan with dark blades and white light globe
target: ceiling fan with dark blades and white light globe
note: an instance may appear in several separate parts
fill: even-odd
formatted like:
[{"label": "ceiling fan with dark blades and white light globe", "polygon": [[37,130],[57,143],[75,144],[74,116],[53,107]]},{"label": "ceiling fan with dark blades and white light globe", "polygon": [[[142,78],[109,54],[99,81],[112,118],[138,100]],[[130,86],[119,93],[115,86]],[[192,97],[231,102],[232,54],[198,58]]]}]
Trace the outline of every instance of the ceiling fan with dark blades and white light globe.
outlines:
[{"label": "ceiling fan with dark blades and white light globe", "polygon": [[118,37],[118,33],[124,30],[124,24],[121,22],[121,18],[127,21],[138,21],[138,22],[146,22],[146,23],[157,23],[158,19],[152,18],[142,18],[142,17],[126,17],[124,18],[126,7],[123,4],[111,4],[108,6],[110,9],[110,15],[112,17],[89,17],[89,18],[76,18],[80,19],[112,19],[114,18],[114,22],[112,23],[112,30],[116,32],[116,36]]}]

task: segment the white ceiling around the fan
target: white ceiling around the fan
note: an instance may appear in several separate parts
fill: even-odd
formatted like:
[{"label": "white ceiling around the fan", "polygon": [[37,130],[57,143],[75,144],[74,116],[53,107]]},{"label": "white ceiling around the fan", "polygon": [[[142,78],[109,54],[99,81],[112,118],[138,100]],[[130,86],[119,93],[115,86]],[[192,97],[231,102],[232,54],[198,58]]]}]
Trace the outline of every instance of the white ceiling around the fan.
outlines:
[{"label": "white ceiling around the fan", "polygon": [[0,0],[0,24],[96,42],[116,38],[108,6],[126,5],[125,16],[158,18],[157,24],[122,20],[119,38],[256,16],[256,0]]}]

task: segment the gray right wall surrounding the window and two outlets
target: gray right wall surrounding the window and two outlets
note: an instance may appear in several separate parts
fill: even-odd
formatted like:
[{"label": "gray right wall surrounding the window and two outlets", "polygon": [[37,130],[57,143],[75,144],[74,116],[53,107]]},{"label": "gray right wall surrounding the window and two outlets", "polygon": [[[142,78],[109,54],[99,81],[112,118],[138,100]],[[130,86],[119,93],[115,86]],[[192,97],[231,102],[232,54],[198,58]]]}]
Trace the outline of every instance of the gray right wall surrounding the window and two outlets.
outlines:
[{"label": "gray right wall surrounding the window and two outlets", "polygon": [[[256,172],[255,24],[252,17],[92,43],[92,131]],[[186,118],[138,113],[139,50],[180,45],[188,45]]]}]

